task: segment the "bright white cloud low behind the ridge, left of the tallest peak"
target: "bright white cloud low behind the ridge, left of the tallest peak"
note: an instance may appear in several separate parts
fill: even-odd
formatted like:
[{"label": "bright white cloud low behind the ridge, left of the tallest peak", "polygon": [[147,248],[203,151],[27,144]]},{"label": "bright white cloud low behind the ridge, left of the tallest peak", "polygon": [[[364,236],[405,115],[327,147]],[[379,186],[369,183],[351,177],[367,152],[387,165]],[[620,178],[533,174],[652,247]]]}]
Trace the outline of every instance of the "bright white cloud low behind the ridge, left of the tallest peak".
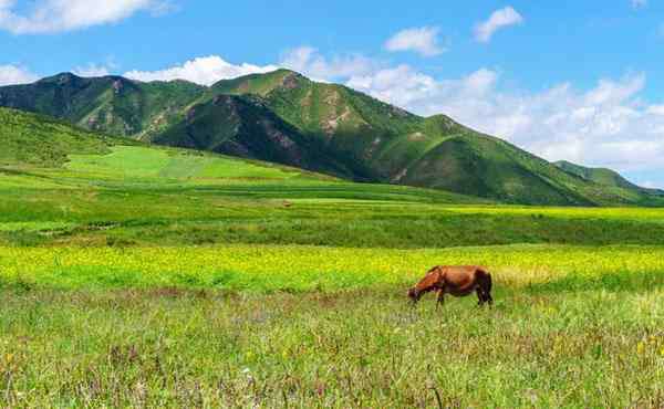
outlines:
[{"label": "bright white cloud low behind the ridge, left of the tallest peak", "polygon": [[127,78],[138,81],[186,80],[200,85],[211,85],[220,80],[235,78],[242,75],[267,73],[277,70],[276,65],[231,64],[218,55],[203,56],[187,61],[183,65],[160,71],[129,71]]}]

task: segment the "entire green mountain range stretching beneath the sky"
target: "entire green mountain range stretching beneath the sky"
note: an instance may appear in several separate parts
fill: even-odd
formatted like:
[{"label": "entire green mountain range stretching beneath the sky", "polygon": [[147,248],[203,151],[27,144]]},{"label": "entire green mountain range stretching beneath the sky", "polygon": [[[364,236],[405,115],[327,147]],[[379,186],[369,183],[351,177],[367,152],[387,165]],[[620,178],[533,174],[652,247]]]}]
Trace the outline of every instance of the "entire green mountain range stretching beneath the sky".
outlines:
[{"label": "entire green mountain range stretching beneath the sky", "polygon": [[631,183],[608,186],[563,169],[444,115],[413,115],[288,70],[210,87],[60,74],[31,85],[0,87],[0,106],[155,144],[510,203],[613,206],[660,200],[655,192]]}]

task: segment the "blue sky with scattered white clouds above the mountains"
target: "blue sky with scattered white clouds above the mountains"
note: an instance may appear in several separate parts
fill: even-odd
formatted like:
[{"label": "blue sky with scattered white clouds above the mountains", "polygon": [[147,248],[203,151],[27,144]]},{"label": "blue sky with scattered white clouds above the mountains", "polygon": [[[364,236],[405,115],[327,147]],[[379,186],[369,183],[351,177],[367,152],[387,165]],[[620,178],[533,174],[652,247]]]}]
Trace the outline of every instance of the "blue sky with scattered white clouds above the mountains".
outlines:
[{"label": "blue sky with scattered white clouds above the mountains", "polygon": [[[0,84],[287,66],[664,187],[664,2],[0,0]],[[543,4],[546,3],[546,4]]]}]

